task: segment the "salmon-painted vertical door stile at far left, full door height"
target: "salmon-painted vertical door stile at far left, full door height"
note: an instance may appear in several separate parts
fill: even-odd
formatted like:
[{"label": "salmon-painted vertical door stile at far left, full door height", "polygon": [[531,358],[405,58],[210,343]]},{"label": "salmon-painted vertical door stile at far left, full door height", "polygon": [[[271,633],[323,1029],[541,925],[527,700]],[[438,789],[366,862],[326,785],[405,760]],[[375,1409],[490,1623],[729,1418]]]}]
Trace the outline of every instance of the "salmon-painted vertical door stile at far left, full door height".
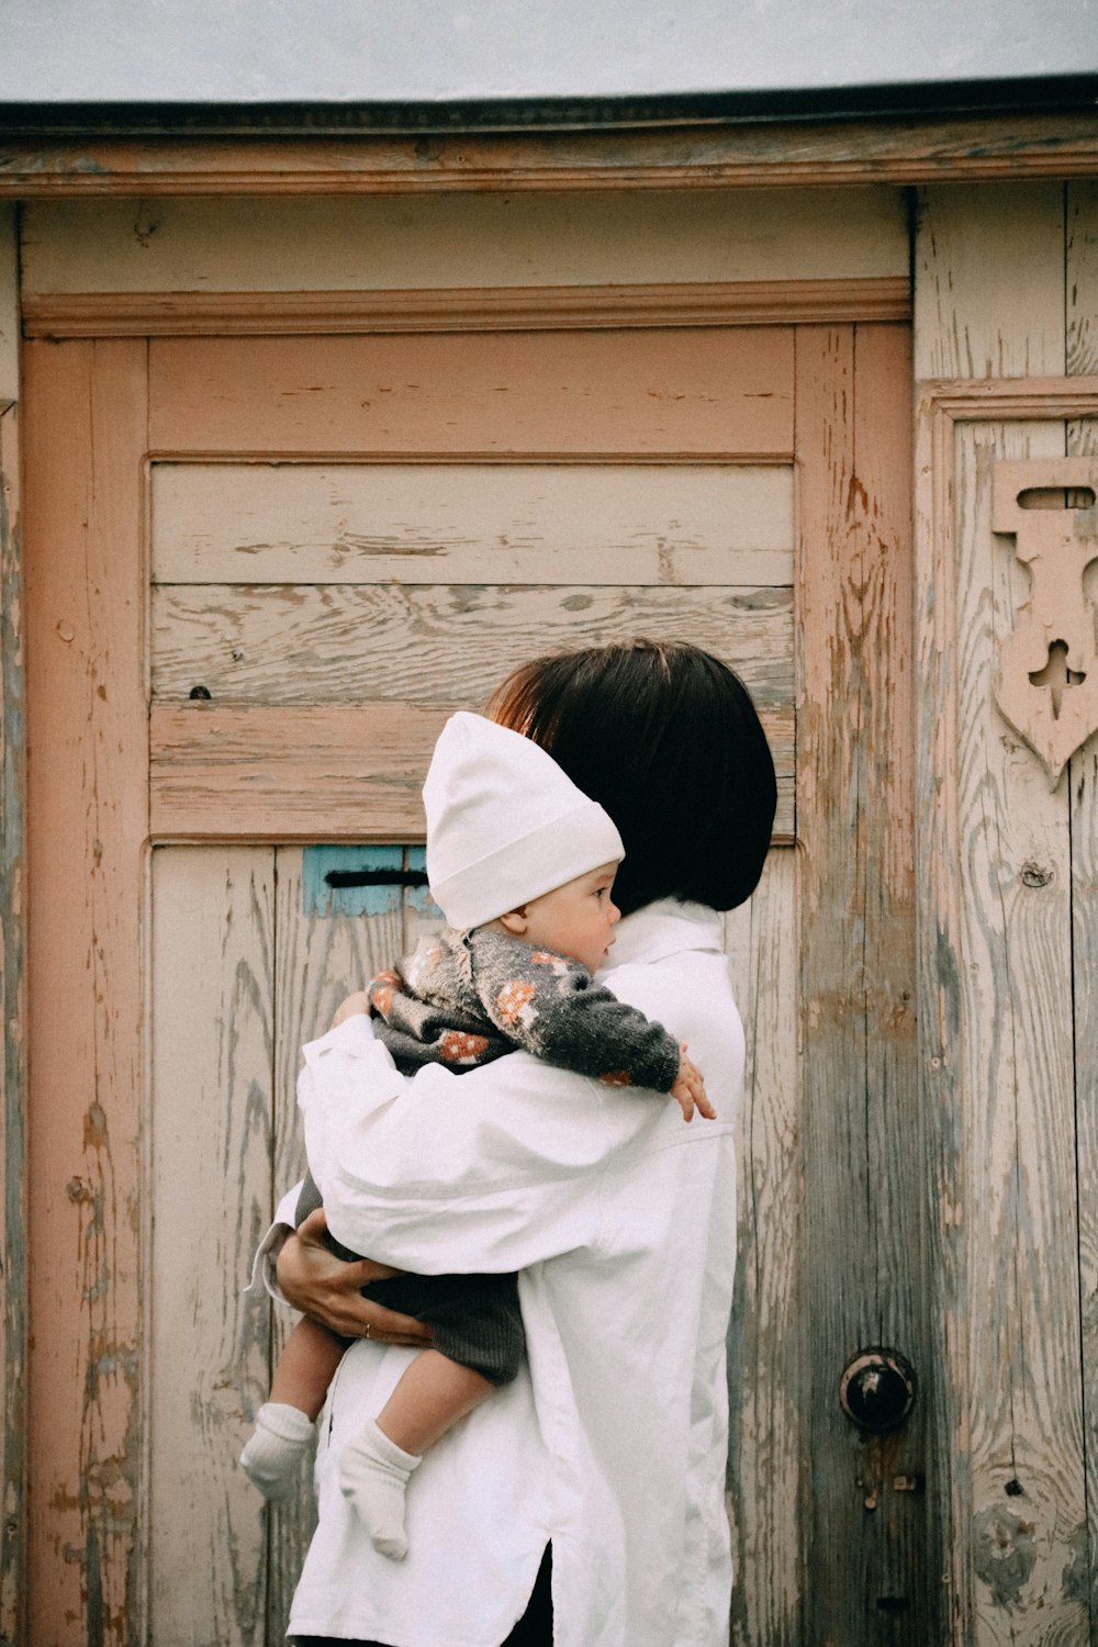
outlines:
[{"label": "salmon-painted vertical door stile at far left, full door height", "polygon": [[25,354],[30,1616],[122,1647],[143,1631],[145,346]]}]

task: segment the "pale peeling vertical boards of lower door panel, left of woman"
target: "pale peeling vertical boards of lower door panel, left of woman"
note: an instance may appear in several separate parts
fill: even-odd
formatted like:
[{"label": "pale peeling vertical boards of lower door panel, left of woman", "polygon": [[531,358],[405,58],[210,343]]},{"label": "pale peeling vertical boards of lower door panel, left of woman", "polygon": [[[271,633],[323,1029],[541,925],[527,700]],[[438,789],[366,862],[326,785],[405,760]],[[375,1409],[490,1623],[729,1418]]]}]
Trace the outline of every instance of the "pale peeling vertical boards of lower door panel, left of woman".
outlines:
[{"label": "pale peeling vertical boards of lower door panel, left of woman", "polygon": [[[308,1471],[263,1510],[237,1466],[288,1331],[242,1281],[301,1174],[300,1047],[405,954],[423,901],[319,907],[300,848],[166,847],[151,876],[148,1640],[280,1642],[314,1522]],[[430,922],[430,914],[426,916]]]}]

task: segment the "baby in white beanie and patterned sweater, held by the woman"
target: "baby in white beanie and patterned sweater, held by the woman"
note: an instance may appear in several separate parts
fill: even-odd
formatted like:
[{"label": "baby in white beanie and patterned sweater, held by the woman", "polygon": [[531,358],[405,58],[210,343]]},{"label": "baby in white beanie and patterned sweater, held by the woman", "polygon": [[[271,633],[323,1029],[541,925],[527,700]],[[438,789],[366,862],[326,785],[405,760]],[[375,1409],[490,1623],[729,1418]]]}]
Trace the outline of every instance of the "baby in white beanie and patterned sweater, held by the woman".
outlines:
[{"label": "baby in white beanie and patterned sweater, held by the woman", "polygon": [[[701,1074],[657,1023],[591,982],[614,942],[617,828],[528,738],[479,715],[444,726],[423,786],[431,894],[449,922],[398,972],[346,1003],[372,1011],[402,1074],[476,1069],[522,1049],[614,1087],[667,1092],[713,1118]],[[311,1176],[296,1222],[321,1204]],[[344,1258],[356,1253],[333,1242]],[[369,1298],[433,1329],[377,1420],[349,1441],[339,1481],[374,1547],[398,1560],[405,1487],[423,1453],[523,1354],[514,1275],[395,1275]],[[296,1476],[346,1341],[300,1321],[240,1463],[267,1497]]]}]

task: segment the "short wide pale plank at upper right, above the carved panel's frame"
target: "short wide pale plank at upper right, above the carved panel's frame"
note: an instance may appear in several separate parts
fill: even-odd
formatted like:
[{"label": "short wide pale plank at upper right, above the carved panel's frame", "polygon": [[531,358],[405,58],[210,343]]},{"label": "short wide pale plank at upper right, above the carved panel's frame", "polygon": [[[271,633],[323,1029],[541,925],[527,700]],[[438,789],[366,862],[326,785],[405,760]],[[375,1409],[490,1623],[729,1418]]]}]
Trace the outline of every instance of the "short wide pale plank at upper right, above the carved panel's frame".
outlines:
[{"label": "short wide pale plank at upper right, above the carved panel's frame", "polygon": [[920,189],[915,379],[1062,371],[1063,184]]}]

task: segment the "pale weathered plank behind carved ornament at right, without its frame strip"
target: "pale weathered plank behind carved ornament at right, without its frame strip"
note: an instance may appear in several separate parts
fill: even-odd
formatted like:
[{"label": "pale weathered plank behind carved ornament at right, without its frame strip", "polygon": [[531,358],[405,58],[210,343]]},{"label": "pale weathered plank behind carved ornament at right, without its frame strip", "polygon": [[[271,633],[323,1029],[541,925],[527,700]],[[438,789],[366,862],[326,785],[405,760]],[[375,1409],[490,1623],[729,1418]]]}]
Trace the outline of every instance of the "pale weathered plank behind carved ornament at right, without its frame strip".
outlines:
[{"label": "pale weathered plank behind carved ornament at right, without its frame strip", "polygon": [[[1072,860],[1067,796],[1050,796],[989,682],[1027,596],[989,530],[996,458],[1063,450],[1063,427],[956,433],[956,652],[961,1064],[970,1224],[966,1430],[979,1642],[1078,1639],[1063,1594],[1085,1530],[1072,1069]],[[991,1309],[975,1299],[994,1299]],[[961,1397],[963,1398],[963,1397]],[[1021,1492],[1017,1492],[1021,1487]],[[971,1525],[968,1523],[971,1517]]]}]

